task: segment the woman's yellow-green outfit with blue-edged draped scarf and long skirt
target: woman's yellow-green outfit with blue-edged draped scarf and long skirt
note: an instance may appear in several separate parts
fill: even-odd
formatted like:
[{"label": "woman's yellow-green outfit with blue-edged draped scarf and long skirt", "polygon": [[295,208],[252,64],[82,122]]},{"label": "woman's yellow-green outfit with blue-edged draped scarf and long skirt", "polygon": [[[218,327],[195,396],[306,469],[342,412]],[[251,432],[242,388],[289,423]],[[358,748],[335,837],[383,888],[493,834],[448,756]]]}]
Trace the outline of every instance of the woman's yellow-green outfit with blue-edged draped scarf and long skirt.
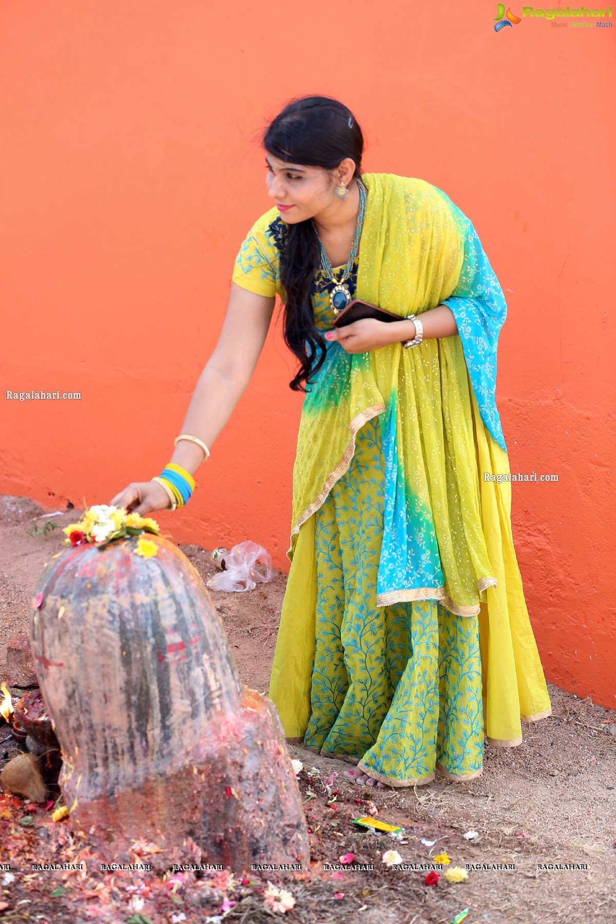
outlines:
[{"label": "woman's yellow-green outfit with blue-edged draped scarf and long skirt", "polygon": [[[363,174],[356,298],[449,305],[458,334],[348,354],[328,343],[297,437],[288,577],[270,698],[287,739],[393,786],[482,772],[550,697],[513,548],[495,402],[501,286],[469,219],[425,180]],[[276,208],[233,280],[285,299]],[[337,278],[344,268],[335,271]],[[315,324],[332,328],[319,272]]]}]

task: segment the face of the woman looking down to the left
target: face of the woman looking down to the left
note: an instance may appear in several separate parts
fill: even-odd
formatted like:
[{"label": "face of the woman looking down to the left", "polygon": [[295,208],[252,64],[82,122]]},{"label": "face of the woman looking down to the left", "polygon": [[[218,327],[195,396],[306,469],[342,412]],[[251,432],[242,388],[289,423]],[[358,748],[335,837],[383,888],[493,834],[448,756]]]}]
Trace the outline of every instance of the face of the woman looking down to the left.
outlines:
[{"label": "face of the woman looking down to the left", "polygon": [[333,189],[340,179],[348,184],[355,171],[350,157],[344,158],[335,172],[306,164],[288,164],[266,152],[268,168],[266,184],[272,200],[278,206],[281,218],[288,225],[304,222],[323,213],[332,202],[341,203]]}]

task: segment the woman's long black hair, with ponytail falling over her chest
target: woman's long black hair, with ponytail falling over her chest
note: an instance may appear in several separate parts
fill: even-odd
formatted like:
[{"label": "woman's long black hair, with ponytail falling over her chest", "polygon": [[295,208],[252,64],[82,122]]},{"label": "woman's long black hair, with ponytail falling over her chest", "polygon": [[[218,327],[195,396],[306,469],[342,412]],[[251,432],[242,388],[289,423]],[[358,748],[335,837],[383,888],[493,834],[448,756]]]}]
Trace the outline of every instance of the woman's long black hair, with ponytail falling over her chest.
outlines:
[{"label": "woman's long black hair, with ponytail falling over her chest", "polygon": [[[286,164],[333,170],[350,157],[356,164],[353,178],[361,175],[361,128],[351,110],[330,96],[302,96],[287,103],[265,128],[261,143]],[[309,383],[325,360],[325,341],[314,323],[311,298],[319,266],[319,241],[311,220],[286,225],[280,276],[286,292],[284,341],[299,360],[289,383],[296,392],[306,391],[302,383]]]}]

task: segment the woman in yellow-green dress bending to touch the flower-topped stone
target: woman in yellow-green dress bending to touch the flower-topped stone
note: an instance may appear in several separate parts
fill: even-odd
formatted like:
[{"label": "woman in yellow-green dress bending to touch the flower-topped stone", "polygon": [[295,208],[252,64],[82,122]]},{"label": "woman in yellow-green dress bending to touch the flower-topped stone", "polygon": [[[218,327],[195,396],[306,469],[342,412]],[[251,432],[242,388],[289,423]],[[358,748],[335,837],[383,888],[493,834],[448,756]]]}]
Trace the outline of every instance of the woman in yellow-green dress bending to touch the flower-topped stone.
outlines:
[{"label": "woman in yellow-green dress bending to touch the flower-topped stone", "polygon": [[[484,730],[515,747],[521,720],[551,712],[511,484],[491,480],[509,472],[494,398],[501,286],[440,189],[362,174],[362,133],[342,103],[289,103],[263,146],[275,205],[237,255],[172,468],[112,503],[186,501],[280,295],[291,388],[306,391],[270,687],[285,735],[356,764],[357,783],[427,784],[437,767],[472,779]],[[351,298],[401,320],[334,328]]]}]

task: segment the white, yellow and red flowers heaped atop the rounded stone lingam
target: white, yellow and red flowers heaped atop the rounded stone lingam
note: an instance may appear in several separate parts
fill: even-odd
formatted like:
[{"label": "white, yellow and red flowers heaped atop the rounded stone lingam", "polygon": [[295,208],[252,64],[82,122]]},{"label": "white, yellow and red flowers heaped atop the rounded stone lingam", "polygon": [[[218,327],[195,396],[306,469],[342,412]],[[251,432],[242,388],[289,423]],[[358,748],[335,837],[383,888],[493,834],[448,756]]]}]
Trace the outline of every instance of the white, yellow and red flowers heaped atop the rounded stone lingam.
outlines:
[{"label": "white, yellow and red flowers heaped atop the rounded stone lingam", "polygon": [[71,523],[62,530],[66,532],[65,545],[73,547],[88,543],[103,548],[115,539],[124,536],[139,536],[135,553],[143,558],[151,558],[158,553],[158,545],[143,535],[146,532],[160,536],[161,530],[156,520],[129,514],[125,507],[97,504],[85,510],[79,523]]}]

